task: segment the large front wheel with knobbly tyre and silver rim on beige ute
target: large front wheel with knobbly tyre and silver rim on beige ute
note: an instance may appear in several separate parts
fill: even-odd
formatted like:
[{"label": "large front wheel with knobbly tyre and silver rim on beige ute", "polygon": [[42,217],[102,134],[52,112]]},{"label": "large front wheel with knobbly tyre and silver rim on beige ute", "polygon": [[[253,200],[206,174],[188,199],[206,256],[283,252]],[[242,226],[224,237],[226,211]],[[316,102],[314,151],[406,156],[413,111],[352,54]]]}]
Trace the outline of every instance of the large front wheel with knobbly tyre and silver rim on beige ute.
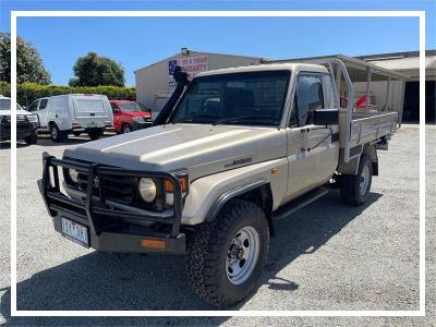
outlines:
[{"label": "large front wheel with knobbly tyre and silver rim on beige ute", "polygon": [[256,288],[268,243],[264,211],[251,202],[230,201],[192,235],[187,272],[194,292],[218,306],[244,300]]}]

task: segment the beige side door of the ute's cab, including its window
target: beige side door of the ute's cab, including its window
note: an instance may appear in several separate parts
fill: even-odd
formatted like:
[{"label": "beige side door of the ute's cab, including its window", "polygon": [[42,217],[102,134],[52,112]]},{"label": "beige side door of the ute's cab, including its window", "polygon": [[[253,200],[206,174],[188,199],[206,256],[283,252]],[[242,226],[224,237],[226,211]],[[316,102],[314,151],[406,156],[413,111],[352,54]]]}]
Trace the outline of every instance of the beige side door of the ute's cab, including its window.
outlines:
[{"label": "beige side door of the ute's cab, including its window", "polygon": [[314,125],[314,110],[335,106],[328,74],[301,72],[296,76],[294,104],[288,134],[288,199],[326,183],[339,158],[337,126]]}]

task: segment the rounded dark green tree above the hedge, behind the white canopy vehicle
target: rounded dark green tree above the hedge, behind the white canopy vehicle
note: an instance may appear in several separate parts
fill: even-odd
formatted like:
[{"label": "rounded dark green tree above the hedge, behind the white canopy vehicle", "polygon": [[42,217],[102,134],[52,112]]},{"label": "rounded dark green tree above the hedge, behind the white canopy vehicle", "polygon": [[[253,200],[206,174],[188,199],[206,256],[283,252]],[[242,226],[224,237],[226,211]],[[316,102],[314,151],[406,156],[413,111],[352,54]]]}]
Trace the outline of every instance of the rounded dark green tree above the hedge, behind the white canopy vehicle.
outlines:
[{"label": "rounded dark green tree above the hedge, behind the white canopy vehicle", "polygon": [[95,52],[77,59],[73,66],[76,78],[71,78],[70,86],[124,86],[124,69],[112,59],[99,57]]}]

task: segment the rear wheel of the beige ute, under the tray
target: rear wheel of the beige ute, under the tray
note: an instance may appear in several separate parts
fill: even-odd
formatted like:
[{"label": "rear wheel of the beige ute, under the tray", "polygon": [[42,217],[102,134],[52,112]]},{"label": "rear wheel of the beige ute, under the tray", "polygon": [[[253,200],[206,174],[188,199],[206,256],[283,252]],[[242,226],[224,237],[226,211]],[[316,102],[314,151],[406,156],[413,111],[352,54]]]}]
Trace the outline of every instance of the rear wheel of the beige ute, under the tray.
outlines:
[{"label": "rear wheel of the beige ute, under the tray", "polygon": [[341,199],[346,204],[360,206],[370,196],[373,180],[373,166],[363,155],[359,162],[358,174],[342,174],[340,184]]}]

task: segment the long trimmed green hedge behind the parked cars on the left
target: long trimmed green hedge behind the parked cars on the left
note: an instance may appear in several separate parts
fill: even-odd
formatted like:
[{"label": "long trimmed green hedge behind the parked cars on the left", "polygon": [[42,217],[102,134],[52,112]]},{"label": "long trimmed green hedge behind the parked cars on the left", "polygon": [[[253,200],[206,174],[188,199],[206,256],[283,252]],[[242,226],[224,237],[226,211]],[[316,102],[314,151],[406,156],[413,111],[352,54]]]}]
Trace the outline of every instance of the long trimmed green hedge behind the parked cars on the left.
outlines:
[{"label": "long trimmed green hedge behind the parked cars on the left", "polygon": [[[16,98],[20,105],[31,106],[33,101],[44,97],[50,97],[62,94],[101,94],[109,99],[118,100],[135,100],[136,90],[134,87],[117,87],[117,86],[57,86],[57,85],[39,85],[35,83],[19,84],[16,87]],[[0,94],[7,97],[11,96],[11,85],[0,82]]]}]

